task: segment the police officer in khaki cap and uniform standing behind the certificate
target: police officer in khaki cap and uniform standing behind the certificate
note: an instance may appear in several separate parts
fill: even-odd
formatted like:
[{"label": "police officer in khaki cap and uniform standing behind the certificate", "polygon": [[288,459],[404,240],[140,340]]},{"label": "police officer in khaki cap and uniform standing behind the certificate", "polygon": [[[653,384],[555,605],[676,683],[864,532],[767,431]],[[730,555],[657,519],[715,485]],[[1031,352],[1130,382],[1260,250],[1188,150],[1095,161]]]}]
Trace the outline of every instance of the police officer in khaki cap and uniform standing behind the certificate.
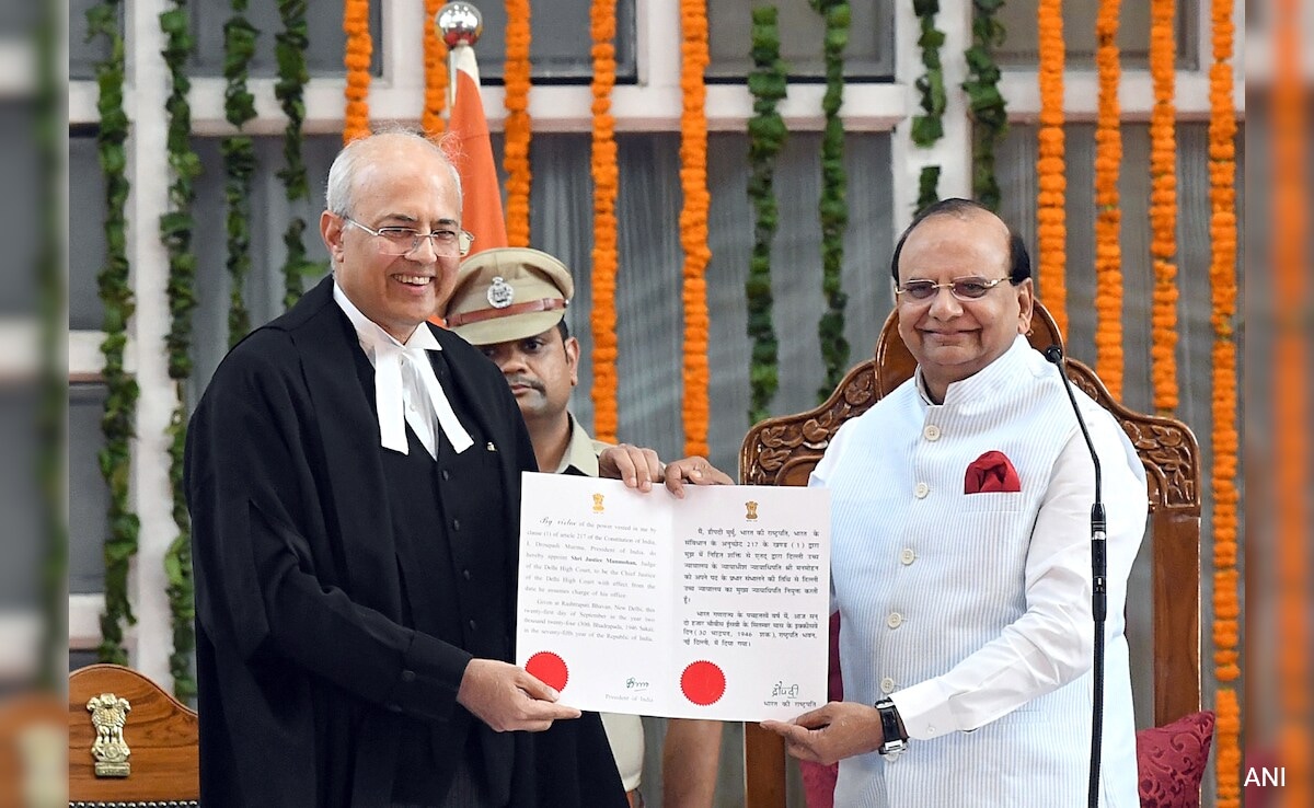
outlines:
[{"label": "police officer in khaki cap and uniform standing behind the certificate", "polygon": [[[597,477],[598,455],[607,444],[593,440],[568,410],[570,392],[579,384],[579,342],[570,336],[565,322],[573,293],[569,269],[547,252],[527,247],[485,250],[461,264],[447,306],[447,325],[502,369],[530,430],[539,470]],[[656,452],[639,447],[632,447],[628,457],[635,466],[656,468],[657,480],[664,474],[703,485],[732,483],[702,457],[662,466]],[[602,720],[629,803],[641,805],[641,720],[612,713],[603,713]],[[669,721],[662,748],[664,805],[712,804],[720,736],[717,721]]]}]

